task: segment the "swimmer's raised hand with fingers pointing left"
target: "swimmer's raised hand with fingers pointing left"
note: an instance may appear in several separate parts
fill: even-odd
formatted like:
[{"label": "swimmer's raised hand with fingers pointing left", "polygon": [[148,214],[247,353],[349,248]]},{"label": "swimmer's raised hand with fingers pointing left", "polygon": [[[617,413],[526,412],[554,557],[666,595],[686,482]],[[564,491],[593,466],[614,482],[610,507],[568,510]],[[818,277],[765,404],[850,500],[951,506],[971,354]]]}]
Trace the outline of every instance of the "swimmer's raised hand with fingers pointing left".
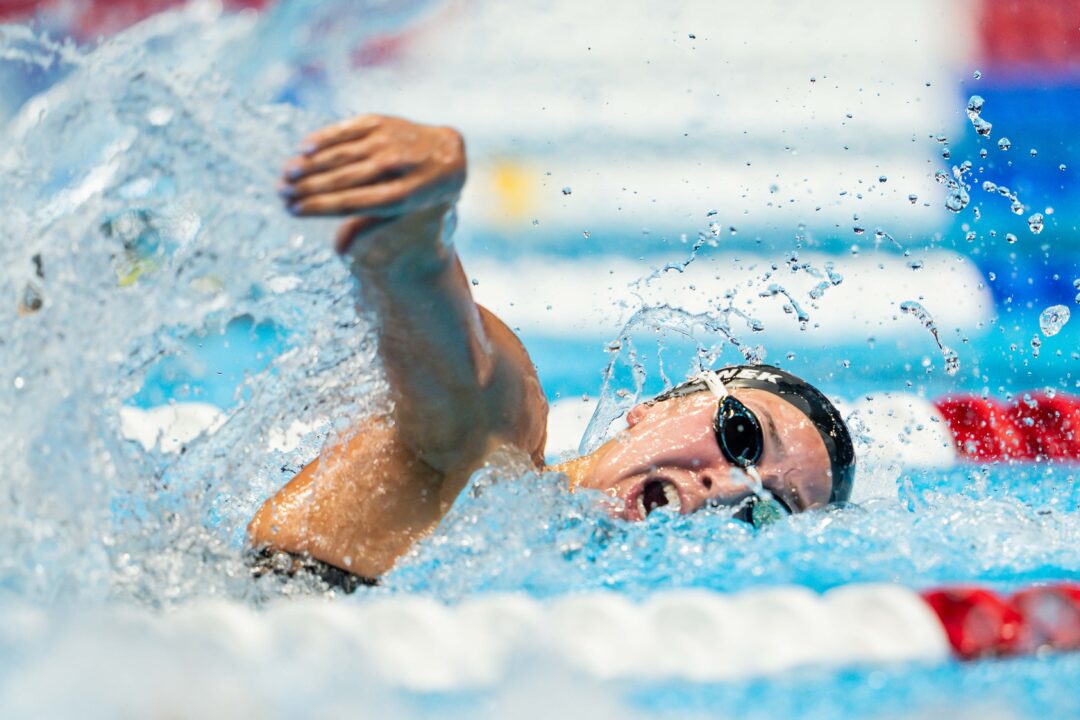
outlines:
[{"label": "swimmer's raised hand with fingers pointing left", "polygon": [[461,135],[383,116],[360,116],[305,138],[283,171],[281,194],[296,215],[355,215],[352,237],[389,218],[457,201],[465,179]]}]

